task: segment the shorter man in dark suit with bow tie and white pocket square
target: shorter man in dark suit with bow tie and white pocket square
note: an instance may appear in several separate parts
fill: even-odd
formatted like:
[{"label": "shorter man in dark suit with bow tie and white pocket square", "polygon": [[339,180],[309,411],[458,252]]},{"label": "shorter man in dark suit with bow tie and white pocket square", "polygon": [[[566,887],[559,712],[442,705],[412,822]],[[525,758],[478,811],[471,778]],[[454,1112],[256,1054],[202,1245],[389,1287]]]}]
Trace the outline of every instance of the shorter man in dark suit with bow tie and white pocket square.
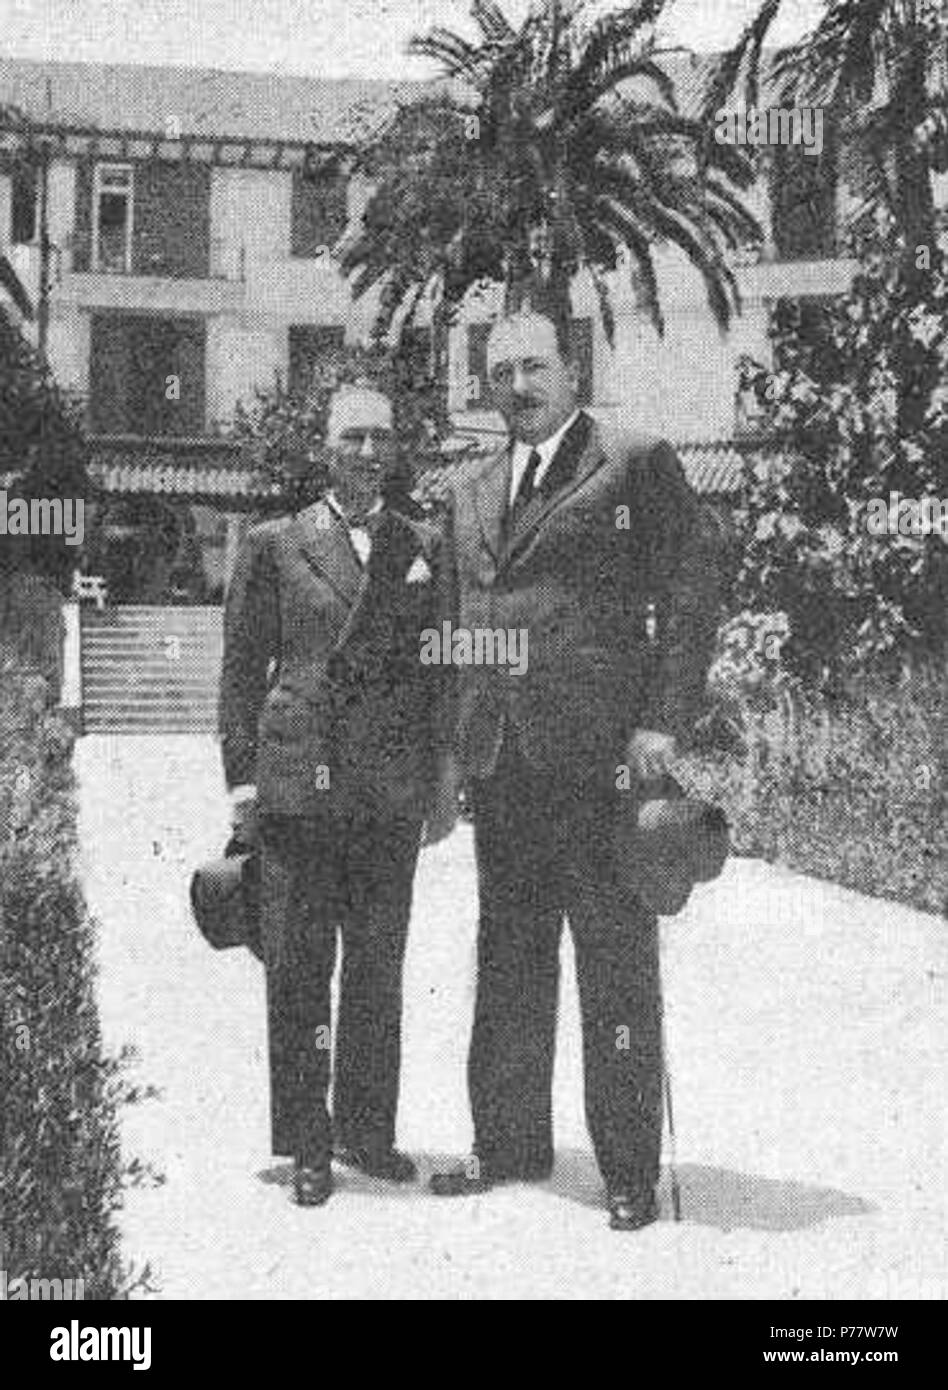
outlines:
[{"label": "shorter man in dark suit with bow tie and white pocket square", "polygon": [[272,1151],[295,1159],[302,1205],[328,1200],[334,1141],[373,1176],[416,1173],[395,1147],[402,962],[434,776],[417,659],[434,585],[418,534],[381,500],[389,400],[336,392],[325,443],[331,489],[252,528],[238,555],[220,699],[235,834],[261,851]]}]

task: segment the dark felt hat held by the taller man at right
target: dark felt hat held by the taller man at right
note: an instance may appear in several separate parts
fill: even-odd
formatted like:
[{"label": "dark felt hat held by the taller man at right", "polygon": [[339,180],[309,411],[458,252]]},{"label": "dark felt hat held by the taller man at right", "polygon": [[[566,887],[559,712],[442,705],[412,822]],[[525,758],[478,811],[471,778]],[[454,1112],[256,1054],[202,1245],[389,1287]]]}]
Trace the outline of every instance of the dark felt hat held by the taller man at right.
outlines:
[{"label": "dark felt hat held by the taller man at right", "polygon": [[641,787],[616,826],[623,888],[660,917],[681,912],[696,883],[717,878],[728,852],[720,806],[687,796],[673,777]]}]

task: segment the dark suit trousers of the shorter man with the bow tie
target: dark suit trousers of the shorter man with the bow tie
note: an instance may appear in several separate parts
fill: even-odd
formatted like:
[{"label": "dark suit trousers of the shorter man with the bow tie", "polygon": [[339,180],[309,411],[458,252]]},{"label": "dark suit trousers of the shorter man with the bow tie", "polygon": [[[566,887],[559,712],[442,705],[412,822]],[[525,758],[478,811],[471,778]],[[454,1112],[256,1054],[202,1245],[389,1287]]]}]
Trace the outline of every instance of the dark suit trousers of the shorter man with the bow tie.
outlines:
[{"label": "dark suit trousers of the shorter man with the bow tie", "polygon": [[[320,1158],[334,1137],[350,1147],[388,1148],[395,1143],[402,965],[421,820],[354,809],[268,815],[261,841],[272,1152]],[[336,931],[342,972],[331,1068]]]}]

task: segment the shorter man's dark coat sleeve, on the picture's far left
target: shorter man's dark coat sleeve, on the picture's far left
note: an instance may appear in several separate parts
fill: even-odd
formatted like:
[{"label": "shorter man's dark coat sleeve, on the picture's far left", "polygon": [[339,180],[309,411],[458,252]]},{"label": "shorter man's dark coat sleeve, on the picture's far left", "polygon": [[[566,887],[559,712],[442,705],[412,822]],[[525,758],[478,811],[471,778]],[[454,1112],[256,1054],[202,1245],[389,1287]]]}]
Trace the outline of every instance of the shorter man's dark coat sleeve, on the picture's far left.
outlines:
[{"label": "shorter man's dark coat sleeve, on the picture's far left", "polygon": [[256,780],[257,721],[270,663],[279,656],[279,585],[272,537],[250,531],[224,605],[218,733],[228,790]]}]

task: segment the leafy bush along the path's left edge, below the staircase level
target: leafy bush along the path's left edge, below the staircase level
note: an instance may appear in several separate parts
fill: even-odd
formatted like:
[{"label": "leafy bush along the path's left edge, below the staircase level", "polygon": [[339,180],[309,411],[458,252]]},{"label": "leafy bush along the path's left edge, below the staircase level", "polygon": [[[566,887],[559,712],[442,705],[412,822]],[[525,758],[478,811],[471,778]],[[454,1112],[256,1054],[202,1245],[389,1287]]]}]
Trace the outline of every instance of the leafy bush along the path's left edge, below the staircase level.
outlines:
[{"label": "leafy bush along the path's left edge, below the staircase level", "polygon": [[72,734],[49,682],[0,648],[0,1268],[128,1287],[118,1063],[101,1047],[93,924],[75,872]]}]

